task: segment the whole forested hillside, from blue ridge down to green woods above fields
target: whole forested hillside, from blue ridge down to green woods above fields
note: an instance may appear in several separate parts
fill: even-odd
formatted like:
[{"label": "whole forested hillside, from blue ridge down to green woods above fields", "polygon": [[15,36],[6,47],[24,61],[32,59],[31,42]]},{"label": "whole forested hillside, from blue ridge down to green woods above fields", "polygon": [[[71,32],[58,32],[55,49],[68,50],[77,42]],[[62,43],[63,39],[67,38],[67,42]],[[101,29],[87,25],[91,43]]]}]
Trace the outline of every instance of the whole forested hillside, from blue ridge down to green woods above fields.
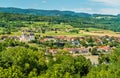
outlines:
[{"label": "whole forested hillside, from blue ridge down to green woods above fields", "polygon": [[0,18],[1,26],[6,26],[8,21],[44,21],[55,24],[65,23],[77,28],[99,28],[120,32],[120,15],[90,15],[71,11],[0,8]]}]

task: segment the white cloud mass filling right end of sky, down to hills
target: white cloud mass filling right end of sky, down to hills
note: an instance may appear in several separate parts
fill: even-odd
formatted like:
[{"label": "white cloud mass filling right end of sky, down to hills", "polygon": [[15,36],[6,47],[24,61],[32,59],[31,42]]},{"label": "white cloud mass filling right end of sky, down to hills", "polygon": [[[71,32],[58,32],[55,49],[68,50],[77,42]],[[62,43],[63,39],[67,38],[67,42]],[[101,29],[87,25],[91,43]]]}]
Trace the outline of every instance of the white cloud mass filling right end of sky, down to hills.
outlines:
[{"label": "white cloud mass filling right end of sky, down to hills", "polygon": [[[90,0],[102,5],[106,5],[108,8],[100,8],[95,13],[99,14],[119,14],[120,13],[120,0]],[[97,7],[97,6],[96,6]],[[111,8],[110,8],[111,7]]]}]

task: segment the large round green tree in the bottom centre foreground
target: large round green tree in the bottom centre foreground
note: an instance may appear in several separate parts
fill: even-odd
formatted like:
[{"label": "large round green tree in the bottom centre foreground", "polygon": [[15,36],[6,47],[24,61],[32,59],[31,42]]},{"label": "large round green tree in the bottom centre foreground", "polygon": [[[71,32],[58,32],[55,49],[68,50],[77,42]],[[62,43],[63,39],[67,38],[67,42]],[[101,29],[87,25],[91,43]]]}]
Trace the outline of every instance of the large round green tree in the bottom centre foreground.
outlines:
[{"label": "large round green tree in the bottom centre foreground", "polygon": [[49,78],[64,78],[64,77],[79,77],[87,75],[90,70],[91,62],[83,56],[73,57],[68,53],[58,53],[55,57],[54,62],[48,68],[45,77]]}]

